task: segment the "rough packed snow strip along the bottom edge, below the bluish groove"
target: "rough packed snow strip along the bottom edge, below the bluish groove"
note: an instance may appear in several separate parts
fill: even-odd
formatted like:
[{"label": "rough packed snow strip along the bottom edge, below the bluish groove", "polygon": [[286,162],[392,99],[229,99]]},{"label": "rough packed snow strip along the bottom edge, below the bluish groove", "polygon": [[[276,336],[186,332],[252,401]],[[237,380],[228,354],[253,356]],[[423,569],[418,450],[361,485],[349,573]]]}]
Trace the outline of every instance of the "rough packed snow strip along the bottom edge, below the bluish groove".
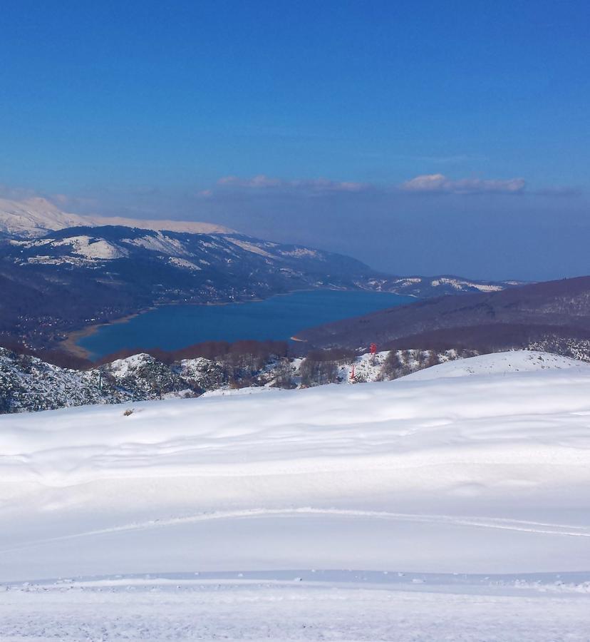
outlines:
[{"label": "rough packed snow strip along the bottom edge, below the bluish groove", "polygon": [[[315,585],[314,585],[315,584]],[[587,641],[587,598],[218,580],[26,586],[0,593],[4,642]]]}]

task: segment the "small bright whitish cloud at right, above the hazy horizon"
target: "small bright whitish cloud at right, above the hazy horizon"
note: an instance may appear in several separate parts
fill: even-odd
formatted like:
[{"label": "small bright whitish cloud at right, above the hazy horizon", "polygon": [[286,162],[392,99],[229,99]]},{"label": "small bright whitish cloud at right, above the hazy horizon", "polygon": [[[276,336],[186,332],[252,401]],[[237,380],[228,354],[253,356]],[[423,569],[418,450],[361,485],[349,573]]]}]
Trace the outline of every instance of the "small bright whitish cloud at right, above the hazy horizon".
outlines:
[{"label": "small bright whitish cloud at right, above the hazy horizon", "polygon": [[448,194],[518,194],[526,187],[524,178],[495,180],[485,178],[460,178],[452,180],[444,174],[423,174],[400,185],[405,192]]}]

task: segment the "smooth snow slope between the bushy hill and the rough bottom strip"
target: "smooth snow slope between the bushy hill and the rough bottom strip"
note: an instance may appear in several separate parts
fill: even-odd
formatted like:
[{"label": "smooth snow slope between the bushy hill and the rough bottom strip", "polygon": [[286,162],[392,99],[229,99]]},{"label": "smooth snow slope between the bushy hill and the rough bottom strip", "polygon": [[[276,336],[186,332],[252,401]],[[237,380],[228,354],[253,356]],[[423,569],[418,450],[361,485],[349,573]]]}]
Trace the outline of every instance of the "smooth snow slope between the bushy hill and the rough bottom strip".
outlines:
[{"label": "smooth snow slope between the bushy hill and the rough bottom strip", "polygon": [[590,569],[590,367],[409,379],[0,417],[0,579]]}]

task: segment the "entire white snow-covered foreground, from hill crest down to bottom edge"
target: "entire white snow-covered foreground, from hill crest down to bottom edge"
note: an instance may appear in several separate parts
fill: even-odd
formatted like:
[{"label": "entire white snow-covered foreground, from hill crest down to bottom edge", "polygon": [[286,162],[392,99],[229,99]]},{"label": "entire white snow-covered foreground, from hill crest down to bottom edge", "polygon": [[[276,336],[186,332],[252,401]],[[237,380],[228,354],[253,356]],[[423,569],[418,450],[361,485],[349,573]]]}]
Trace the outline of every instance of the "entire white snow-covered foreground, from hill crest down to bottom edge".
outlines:
[{"label": "entire white snow-covered foreground, from hill crest down to bottom edge", "polygon": [[0,417],[0,639],[590,639],[590,366],[541,356]]}]

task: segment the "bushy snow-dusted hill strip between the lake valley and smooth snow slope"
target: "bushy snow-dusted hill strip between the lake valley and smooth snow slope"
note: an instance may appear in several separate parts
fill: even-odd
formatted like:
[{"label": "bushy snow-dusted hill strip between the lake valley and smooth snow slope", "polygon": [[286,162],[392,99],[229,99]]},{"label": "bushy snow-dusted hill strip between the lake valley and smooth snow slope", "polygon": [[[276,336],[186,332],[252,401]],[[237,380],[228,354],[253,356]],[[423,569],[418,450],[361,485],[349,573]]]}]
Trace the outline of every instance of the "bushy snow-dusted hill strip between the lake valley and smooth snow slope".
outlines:
[{"label": "bushy snow-dusted hill strip between the lake valley and smooth snow slope", "polygon": [[[522,350],[461,358],[457,352],[434,354],[428,351],[377,352],[327,362],[330,372],[305,377],[303,359],[273,357],[262,360],[258,370],[239,367],[234,373],[227,364],[198,357],[168,365],[148,354],[118,359],[90,370],[71,370],[43,362],[37,357],[17,355],[0,347],[0,414],[58,409],[87,404],[116,404],[174,397],[227,396],[274,392],[277,387],[313,387],[327,383],[360,384],[395,379],[437,379],[465,374],[503,374],[563,368],[588,368],[586,362]],[[248,358],[245,357],[248,361]],[[252,361],[252,359],[249,359]],[[390,367],[390,364],[395,365]],[[432,363],[440,365],[432,365]],[[324,362],[326,365],[326,362]],[[285,367],[290,371],[284,377]],[[406,374],[406,373],[413,374]]]}]

